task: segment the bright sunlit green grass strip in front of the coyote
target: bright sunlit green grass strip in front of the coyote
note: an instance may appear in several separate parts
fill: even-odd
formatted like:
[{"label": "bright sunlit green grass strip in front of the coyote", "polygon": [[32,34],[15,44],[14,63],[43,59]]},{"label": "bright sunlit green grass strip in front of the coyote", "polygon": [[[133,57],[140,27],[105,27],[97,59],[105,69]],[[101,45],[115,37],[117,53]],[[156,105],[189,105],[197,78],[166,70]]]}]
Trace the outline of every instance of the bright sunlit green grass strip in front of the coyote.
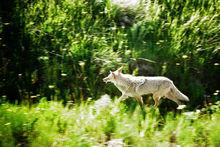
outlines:
[{"label": "bright sunlit green grass strip in front of the coyote", "polygon": [[219,108],[161,116],[146,107],[144,118],[107,96],[65,107],[45,99],[31,108],[1,104],[0,146],[218,146]]}]

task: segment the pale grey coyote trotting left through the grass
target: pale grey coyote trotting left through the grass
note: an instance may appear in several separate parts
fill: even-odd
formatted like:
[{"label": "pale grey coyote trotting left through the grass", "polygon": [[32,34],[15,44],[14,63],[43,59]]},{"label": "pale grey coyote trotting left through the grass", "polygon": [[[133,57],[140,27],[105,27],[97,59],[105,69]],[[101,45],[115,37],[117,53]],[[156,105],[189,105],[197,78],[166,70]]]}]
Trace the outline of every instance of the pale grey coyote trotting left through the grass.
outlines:
[{"label": "pale grey coyote trotting left through the grass", "polygon": [[168,98],[181,105],[181,101],[189,101],[189,98],[181,93],[173,82],[166,77],[133,76],[122,73],[122,67],[111,72],[103,79],[104,82],[112,82],[121,91],[119,101],[128,97],[134,97],[139,104],[143,105],[142,95],[153,94],[154,106],[159,105],[160,98]]}]

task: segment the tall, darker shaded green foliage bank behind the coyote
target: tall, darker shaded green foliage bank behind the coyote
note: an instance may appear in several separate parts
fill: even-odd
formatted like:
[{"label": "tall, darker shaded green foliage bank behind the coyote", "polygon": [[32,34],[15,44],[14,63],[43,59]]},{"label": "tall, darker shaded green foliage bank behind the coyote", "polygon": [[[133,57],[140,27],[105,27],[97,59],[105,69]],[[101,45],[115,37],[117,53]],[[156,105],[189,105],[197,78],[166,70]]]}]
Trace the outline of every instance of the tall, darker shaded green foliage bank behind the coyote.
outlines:
[{"label": "tall, darker shaded green foliage bank behind the coyote", "polygon": [[172,79],[190,108],[219,99],[217,0],[146,0],[134,8],[110,0],[9,0],[0,14],[0,94],[11,102],[119,95],[102,78],[121,65],[142,74],[130,68],[139,58],[154,61],[154,75]]}]

